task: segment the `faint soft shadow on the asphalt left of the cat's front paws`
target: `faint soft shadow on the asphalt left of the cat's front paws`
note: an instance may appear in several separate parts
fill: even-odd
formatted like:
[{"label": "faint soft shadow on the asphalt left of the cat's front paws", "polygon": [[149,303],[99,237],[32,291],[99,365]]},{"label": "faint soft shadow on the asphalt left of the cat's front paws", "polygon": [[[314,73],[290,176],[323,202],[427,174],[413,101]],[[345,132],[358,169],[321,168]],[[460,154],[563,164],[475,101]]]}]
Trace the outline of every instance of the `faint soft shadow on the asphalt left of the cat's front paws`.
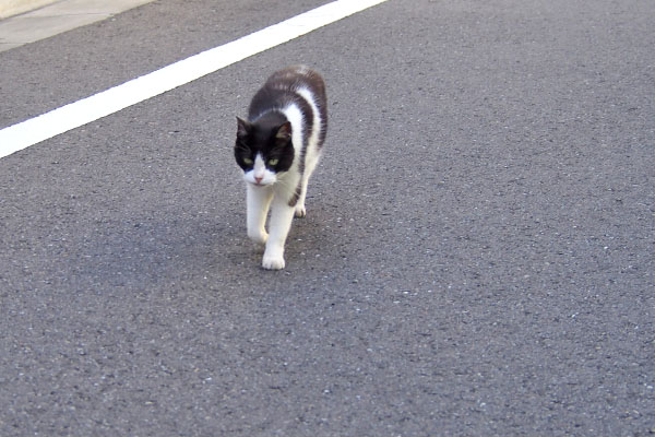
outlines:
[{"label": "faint soft shadow on the asphalt left of the cat's front paws", "polygon": [[108,221],[78,241],[71,274],[87,285],[150,287],[192,280],[257,260],[241,226],[219,217],[130,217]]}]

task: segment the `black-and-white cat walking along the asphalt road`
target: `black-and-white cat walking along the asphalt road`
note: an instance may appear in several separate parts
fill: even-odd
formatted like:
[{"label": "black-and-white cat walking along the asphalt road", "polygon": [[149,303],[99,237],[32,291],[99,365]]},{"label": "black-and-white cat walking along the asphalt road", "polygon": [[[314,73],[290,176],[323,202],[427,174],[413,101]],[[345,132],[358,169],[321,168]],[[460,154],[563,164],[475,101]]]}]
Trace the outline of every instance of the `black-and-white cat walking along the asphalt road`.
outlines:
[{"label": "black-and-white cat walking along the asphalt road", "polygon": [[273,73],[252,98],[248,119],[237,117],[234,152],[247,182],[248,237],[265,245],[266,270],[285,268],[285,241],[294,216],[307,213],[307,185],[326,132],[325,83],[305,66]]}]

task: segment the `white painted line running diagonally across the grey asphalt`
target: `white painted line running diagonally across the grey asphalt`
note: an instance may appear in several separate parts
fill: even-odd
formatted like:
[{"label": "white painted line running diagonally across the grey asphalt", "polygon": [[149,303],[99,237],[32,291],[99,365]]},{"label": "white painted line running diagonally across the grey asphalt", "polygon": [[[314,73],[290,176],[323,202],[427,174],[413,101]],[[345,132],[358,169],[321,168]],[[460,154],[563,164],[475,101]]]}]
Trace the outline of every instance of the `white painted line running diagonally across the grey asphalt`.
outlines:
[{"label": "white painted line running diagonally across the grey asphalt", "polygon": [[121,85],[0,130],[0,158],[364,11],[386,0],[337,0]]}]

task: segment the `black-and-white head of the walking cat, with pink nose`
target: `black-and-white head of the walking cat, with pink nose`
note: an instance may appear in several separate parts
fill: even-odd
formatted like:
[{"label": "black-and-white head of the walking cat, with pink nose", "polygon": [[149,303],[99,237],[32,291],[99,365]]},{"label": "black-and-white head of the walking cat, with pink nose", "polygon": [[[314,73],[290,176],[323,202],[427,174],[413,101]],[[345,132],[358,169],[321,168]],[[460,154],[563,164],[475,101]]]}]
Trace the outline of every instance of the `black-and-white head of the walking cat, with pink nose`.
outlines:
[{"label": "black-and-white head of the walking cat, with pink nose", "polygon": [[237,117],[235,158],[247,182],[266,186],[277,181],[294,163],[291,123],[279,117],[249,122]]}]

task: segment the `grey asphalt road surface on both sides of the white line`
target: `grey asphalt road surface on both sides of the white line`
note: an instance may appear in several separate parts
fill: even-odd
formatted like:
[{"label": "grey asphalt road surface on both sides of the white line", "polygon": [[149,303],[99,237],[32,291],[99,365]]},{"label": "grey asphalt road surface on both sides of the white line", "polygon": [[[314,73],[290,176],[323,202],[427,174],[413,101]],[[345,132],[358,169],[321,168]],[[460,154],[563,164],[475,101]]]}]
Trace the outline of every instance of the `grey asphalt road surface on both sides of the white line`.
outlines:
[{"label": "grey asphalt road surface on both sides of the white line", "polygon": [[[324,2],[160,0],[2,52],[0,127]],[[655,434],[654,27],[390,0],[0,160],[0,435]],[[267,272],[235,116],[297,62],[331,126]]]}]

